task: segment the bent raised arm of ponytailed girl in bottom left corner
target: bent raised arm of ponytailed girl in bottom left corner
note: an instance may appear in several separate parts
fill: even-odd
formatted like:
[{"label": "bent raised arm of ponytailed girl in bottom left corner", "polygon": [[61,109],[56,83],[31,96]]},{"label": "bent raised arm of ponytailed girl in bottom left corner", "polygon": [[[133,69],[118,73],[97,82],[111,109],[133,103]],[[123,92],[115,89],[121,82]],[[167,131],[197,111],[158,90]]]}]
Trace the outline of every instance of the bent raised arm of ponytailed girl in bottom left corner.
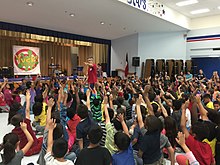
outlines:
[{"label": "bent raised arm of ponytailed girl in bottom left corner", "polygon": [[27,124],[24,123],[24,122],[21,122],[20,123],[20,127],[22,129],[22,131],[24,132],[28,142],[27,144],[24,146],[24,148],[22,148],[22,152],[24,153],[24,155],[28,152],[28,150],[31,148],[33,142],[34,142],[34,139],[32,138],[31,134],[28,132],[27,130]]}]

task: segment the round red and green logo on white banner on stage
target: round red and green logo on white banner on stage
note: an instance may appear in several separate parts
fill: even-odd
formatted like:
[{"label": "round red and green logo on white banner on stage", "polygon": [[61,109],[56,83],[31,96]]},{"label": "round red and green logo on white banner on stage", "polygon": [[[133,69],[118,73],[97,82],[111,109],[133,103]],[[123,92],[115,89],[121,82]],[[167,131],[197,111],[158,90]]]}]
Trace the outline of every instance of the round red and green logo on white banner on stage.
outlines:
[{"label": "round red and green logo on white banner on stage", "polygon": [[21,49],[14,56],[15,65],[23,71],[31,71],[39,64],[36,53],[30,49]]}]

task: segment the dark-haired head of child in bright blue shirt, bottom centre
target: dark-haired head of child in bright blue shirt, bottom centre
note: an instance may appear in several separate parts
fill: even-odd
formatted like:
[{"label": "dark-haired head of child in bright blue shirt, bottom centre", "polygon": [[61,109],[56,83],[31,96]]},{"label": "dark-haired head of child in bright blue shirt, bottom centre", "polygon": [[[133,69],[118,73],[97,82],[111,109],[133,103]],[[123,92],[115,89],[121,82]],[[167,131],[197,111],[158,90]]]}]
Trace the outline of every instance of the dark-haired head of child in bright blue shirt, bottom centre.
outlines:
[{"label": "dark-haired head of child in bright blue shirt, bottom centre", "polygon": [[114,141],[120,151],[127,150],[131,143],[129,136],[122,132],[117,132],[114,135]]}]

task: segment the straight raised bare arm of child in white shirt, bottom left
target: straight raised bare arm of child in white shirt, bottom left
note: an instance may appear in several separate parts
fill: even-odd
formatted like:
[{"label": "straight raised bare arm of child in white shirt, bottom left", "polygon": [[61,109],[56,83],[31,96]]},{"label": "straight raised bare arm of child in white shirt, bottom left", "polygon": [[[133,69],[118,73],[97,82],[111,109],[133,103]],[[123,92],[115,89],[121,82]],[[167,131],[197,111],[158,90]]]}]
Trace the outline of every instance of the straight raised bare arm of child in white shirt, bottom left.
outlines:
[{"label": "straight raised bare arm of child in white shirt, bottom left", "polygon": [[48,139],[47,139],[47,153],[52,151],[53,147],[53,130],[56,127],[55,120],[50,119],[48,122]]}]

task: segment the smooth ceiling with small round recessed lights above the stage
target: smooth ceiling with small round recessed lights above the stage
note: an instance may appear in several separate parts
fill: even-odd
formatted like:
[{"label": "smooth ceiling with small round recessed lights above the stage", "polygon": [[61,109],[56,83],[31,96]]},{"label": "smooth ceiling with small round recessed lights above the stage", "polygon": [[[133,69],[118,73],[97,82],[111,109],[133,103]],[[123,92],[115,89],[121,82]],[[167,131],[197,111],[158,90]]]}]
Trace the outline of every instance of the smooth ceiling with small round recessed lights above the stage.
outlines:
[{"label": "smooth ceiling with small round recessed lights above the stage", "polygon": [[117,0],[0,0],[0,21],[109,40],[139,32],[187,30]]}]

